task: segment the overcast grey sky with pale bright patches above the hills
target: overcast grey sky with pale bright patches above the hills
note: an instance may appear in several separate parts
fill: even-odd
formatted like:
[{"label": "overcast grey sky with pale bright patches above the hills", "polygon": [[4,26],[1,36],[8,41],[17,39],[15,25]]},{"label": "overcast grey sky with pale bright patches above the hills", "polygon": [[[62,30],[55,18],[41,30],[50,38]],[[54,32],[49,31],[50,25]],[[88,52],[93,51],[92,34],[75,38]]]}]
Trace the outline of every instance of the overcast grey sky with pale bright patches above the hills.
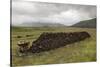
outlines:
[{"label": "overcast grey sky with pale bright patches above the hills", "polygon": [[30,22],[72,25],[96,17],[96,6],[12,0],[12,24]]}]

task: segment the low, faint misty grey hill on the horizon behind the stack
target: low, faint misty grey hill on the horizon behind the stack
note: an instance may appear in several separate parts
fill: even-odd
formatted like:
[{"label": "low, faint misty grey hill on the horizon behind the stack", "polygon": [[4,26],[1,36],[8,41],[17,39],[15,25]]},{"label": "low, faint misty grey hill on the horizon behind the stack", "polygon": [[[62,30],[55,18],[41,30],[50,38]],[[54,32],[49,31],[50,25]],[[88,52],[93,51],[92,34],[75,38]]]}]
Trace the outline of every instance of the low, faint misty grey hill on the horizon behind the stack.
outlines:
[{"label": "low, faint misty grey hill on the horizon behind the stack", "polygon": [[60,23],[29,22],[29,23],[22,23],[17,26],[20,26],[20,27],[64,27],[65,25],[60,24]]}]

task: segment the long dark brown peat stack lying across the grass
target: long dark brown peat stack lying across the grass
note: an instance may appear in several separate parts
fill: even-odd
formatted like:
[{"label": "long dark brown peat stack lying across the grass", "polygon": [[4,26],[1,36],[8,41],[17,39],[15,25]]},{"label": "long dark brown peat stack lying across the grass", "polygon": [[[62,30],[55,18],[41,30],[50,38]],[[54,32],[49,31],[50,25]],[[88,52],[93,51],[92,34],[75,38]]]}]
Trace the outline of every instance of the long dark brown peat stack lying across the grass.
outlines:
[{"label": "long dark brown peat stack lying across the grass", "polygon": [[48,51],[89,37],[90,35],[84,31],[70,33],[42,33],[36,41],[33,41],[29,51],[32,53]]}]

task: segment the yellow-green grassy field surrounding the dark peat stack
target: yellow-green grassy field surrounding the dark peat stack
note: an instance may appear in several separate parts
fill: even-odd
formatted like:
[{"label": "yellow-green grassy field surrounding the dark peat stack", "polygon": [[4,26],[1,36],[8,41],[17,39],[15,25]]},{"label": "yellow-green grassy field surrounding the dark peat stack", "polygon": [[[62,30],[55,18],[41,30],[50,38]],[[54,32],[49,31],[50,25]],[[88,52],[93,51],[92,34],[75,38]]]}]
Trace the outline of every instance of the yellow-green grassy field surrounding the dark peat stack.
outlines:
[{"label": "yellow-green grassy field surrounding the dark peat stack", "polygon": [[[55,50],[30,54],[28,56],[17,55],[17,42],[19,40],[27,40],[32,43],[43,32],[78,32],[87,31],[91,38],[84,41],[66,45]],[[96,29],[95,28],[21,28],[13,27],[11,31],[11,49],[12,49],[12,65],[41,65],[41,64],[61,64],[61,63],[76,63],[76,62],[92,62],[96,61]],[[32,35],[26,37],[26,35]],[[22,36],[22,38],[17,38]],[[30,46],[31,46],[30,43]]]}]

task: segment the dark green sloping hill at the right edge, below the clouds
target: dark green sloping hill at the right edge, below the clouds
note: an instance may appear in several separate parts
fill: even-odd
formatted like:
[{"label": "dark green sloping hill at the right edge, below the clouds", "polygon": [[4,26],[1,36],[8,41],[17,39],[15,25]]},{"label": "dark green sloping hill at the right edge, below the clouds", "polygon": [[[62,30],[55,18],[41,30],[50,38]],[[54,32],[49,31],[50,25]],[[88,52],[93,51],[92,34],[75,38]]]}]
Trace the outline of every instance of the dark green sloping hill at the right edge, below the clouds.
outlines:
[{"label": "dark green sloping hill at the right edge, below the clouds", "polygon": [[72,25],[72,27],[96,28],[96,18],[85,20],[85,21],[80,21],[79,23]]}]

